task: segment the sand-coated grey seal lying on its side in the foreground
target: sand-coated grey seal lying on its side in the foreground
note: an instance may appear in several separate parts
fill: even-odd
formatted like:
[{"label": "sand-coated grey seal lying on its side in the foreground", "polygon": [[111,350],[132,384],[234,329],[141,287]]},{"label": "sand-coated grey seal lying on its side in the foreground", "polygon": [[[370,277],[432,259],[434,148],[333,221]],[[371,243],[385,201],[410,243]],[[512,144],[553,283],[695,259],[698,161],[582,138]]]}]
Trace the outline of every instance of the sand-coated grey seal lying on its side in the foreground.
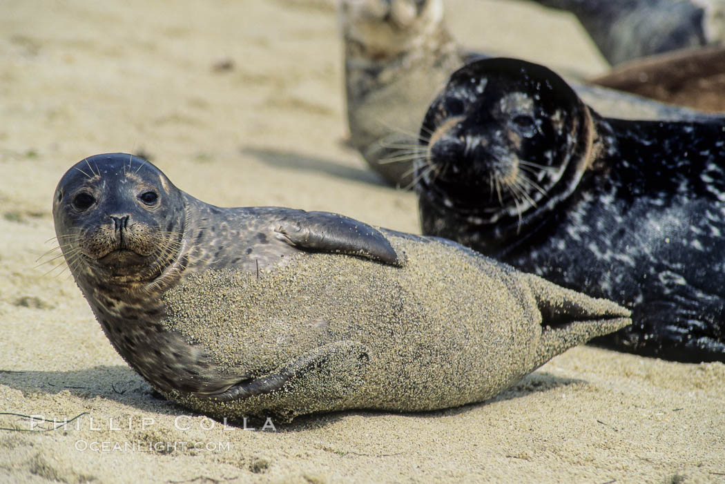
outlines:
[{"label": "sand-coated grey seal lying on its side in the foreground", "polygon": [[115,349],[208,414],[481,401],[629,324],[610,301],[450,241],[327,212],[205,204],[128,154],[71,167],[53,216]]}]

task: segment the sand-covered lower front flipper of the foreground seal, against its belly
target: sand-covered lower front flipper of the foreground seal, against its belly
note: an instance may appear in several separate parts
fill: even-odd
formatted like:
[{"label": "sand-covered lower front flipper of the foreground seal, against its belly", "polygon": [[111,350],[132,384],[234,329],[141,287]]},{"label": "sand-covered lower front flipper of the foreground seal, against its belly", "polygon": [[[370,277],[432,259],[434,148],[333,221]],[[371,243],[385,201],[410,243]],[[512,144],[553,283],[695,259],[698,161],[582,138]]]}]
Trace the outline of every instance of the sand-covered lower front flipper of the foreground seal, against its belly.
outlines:
[{"label": "sand-covered lower front flipper of the foreground seal, against its belly", "polygon": [[[301,381],[303,386],[314,386],[315,376],[323,373],[334,379],[346,380],[345,388],[352,388],[347,380],[357,377],[362,367],[369,361],[368,349],[357,341],[336,341],[310,351],[299,359],[285,364],[276,372],[264,377],[245,379],[235,383],[225,391],[211,394],[198,394],[202,398],[214,401],[233,401],[251,396],[265,395],[281,391],[291,391],[291,386]],[[331,383],[326,382],[326,386]],[[312,389],[312,388],[310,388]],[[327,388],[323,388],[327,391]],[[334,393],[329,388],[328,393]]]}]

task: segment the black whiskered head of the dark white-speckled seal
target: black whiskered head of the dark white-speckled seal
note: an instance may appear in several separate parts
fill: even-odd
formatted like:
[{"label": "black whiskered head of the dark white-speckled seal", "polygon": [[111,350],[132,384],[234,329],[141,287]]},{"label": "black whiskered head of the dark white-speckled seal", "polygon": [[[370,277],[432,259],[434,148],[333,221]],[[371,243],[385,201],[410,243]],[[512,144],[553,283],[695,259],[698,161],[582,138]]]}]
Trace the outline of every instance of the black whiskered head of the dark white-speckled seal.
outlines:
[{"label": "black whiskered head of the dark white-speckled seal", "polygon": [[547,68],[473,62],[451,76],[423,120],[418,191],[473,223],[518,228],[576,188],[591,133],[584,104]]}]

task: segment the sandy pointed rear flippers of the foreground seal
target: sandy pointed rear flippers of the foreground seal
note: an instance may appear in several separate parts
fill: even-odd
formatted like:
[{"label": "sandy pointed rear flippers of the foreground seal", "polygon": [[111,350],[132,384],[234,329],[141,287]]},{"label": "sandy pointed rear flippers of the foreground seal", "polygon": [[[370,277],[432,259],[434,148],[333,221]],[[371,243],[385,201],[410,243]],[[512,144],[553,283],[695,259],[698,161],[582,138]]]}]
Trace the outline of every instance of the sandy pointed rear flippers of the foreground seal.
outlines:
[{"label": "sandy pointed rear flippers of the foreground seal", "polygon": [[534,367],[597,336],[631,325],[631,312],[613,301],[596,299],[527,274],[542,314],[542,335]]}]

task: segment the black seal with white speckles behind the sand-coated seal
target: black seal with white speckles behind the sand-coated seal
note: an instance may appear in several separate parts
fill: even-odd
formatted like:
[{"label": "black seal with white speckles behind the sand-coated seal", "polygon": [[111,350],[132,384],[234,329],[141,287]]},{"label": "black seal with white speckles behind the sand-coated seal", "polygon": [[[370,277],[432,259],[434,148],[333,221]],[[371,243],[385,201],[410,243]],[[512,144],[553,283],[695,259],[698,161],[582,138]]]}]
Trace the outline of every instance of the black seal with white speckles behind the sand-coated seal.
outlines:
[{"label": "black seal with white speckles behind the sand-coated seal", "polygon": [[421,140],[423,233],[629,307],[600,344],[725,361],[725,120],[601,117],[546,67],[486,59]]}]

